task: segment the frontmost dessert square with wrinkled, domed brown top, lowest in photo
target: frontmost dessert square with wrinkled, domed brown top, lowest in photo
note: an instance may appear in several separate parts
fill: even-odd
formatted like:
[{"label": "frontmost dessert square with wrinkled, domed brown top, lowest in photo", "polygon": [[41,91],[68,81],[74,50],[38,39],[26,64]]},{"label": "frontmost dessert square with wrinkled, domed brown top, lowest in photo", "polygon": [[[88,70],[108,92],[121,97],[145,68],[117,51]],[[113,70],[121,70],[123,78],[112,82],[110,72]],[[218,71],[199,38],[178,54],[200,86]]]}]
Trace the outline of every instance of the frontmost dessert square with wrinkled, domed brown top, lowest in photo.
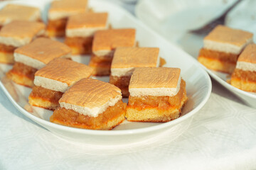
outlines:
[{"label": "frontmost dessert square with wrinkled, domed brown top, lowest in photo", "polygon": [[100,80],[85,78],[60,98],[50,122],[75,128],[111,130],[125,119],[121,90]]}]

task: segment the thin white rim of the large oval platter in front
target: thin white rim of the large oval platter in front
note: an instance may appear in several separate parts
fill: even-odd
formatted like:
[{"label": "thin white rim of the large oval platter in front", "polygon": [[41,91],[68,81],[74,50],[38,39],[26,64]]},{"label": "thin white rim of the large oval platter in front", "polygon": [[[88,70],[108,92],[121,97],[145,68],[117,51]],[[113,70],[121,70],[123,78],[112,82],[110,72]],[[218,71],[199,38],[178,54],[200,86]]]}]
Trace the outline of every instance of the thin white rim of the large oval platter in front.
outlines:
[{"label": "thin white rim of the large oval platter in front", "polygon": [[[167,44],[169,44],[171,46],[175,46],[175,47],[177,47],[178,49],[181,50],[180,47],[178,47],[177,45],[174,45],[171,42],[169,42],[168,40],[166,40],[164,37],[162,37],[161,35],[156,33],[154,30],[152,30],[151,28],[146,26],[146,24],[142,23],[142,21],[139,21],[138,18],[135,18],[134,16],[132,16],[131,13],[124,10],[120,6],[117,6],[115,4],[112,4],[111,2],[106,2],[106,1],[102,1],[102,0],[97,0],[97,1],[100,1],[102,3],[110,4],[111,6],[114,6],[114,8],[119,8],[119,10],[122,10],[127,17],[132,18],[132,20],[134,20],[134,21],[137,21],[137,23],[139,23],[142,26],[142,28],[148,30],[151,34],[154,34],[157,38],[161,38]],[[11,3],[14,3],[14,1],[11,1]],[[183,52],[188,57],[191,57],[190,55],[188,55],[183,50],[181,50],[180,52]],[[191,59],[194,61],[193,64],[197,64],[198,66],[200,65],[200,64],[198,64],[198,62],[196,62],[196,60],[193,57],[191,57]],[[197,113],[205,105],[205,103],[208,101],[208,98],[210,97],[210,93],[211,93],[211,89],[212,89],[212,84],[211,84],[209,75],[201,67],[199,69],[201,69],[203,77],[206,78],[206,84],[208,86],[208,91],[207,91],[206,95],[204,96],[203,101],[201,101],[201,103],[199,103],[198,106],[196,106],[196,108],[193,108],[192,111],[189,111],[188,113],[186,113],[186,115],[183,115],[183,116],[177,118],[176,120],[171,120],[167,123],[161,123],[159,125],[155,125],[155,126],[151,126],[151,127],[147,127],[147,128],[139,128],[139,129],[132,129],[132,130],[87,130],[87,129],[72,128],[72,127],[68,127],[68,126],[64,126],[64,125],[58,125],[58,124],[55,124],[55,123],[51,123],[48,120],[38,118],[35,115],[33,115],[31,113],[28,113],[28,111],[26,111],[24,108],[19,106],[18,103],[16,103],[16,101],[14,101],[14,98],[12,98],[12,96],[6,90],[4,84],[2,84],[1,81],[0,81],[0,87],[4,91],[4,94],[6,94],[6,96],[9,98],[11,103],[13,103],[13,105],[18,109],[18,111],[20,111],[21,113],[23,113],[23,115],[30,118],[31,120],[33,120],[35,123],[37,123],[39,125],[43,124],[43,125],[47,125],[50,128],[55,128],[55,129],[58,129],[58,130],[65,130],[65,131],[68,131],[68,132],[76,132],[76,133],[85,134],[85,135],[102,135],[102,136],[104,136],[104,135],[131,135],[131,134],[141,134],[141,133],[144,133],[144,132],[153,132],[155,130],[168,128],[169,126],[176,125],[177,123],[179,123],[183,120],[186,120],[187,118],[190,118],[192,115]]]}]

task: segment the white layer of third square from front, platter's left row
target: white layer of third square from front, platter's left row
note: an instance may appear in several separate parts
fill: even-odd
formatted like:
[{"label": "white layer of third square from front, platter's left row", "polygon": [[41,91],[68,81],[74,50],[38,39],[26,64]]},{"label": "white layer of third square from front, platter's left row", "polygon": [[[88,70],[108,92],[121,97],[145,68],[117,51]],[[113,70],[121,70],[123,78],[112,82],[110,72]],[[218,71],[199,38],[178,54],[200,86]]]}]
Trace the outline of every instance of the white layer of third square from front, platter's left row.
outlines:
[{"label": "white layer of third square from front, platter's left row", "polygon": [[[68,58],[70,56],[71,55],[68,54],[68,55],[63,55],[61,57],[62,58]],[[14,52],[14,61],[15,62],[21,62],[21,63],[26,64],[30,67],[35,68],[35,69],[41,69],[41,68],[46,66],[46,64],[44,64],[43,62],[41,62],[39,60],[33,59],[33,58],[28,57],[26,55],[21,55],[21,54],[16,53],[16,52]]]}]

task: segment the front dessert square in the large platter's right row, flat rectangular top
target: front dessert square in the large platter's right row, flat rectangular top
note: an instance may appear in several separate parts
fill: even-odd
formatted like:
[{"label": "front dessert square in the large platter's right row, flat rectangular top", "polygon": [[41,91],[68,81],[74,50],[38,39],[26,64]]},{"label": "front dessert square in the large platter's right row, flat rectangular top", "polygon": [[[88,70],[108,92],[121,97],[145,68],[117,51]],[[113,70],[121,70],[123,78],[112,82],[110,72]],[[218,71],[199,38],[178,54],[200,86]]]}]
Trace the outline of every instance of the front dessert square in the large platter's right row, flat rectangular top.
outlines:
[{"label": "front dessert square in the large platter's right row, flat rectangular top", "polygon": [[181,69],[136,68],[129,84],[126,118],[138,122],[168,122],[179,117],[187,100]]}]

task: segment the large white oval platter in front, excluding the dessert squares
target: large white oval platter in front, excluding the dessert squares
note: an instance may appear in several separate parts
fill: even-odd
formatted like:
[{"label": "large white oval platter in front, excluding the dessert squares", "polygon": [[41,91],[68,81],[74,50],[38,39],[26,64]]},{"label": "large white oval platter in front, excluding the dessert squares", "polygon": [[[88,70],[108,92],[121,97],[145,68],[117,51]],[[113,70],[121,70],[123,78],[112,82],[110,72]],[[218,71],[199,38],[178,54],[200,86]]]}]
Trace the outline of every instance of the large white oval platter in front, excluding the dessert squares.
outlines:
[{"label": "large white oval platter in front, excluding the dessert squares", "polygon": [[[0,8],[6,3],[1,3]],[[49,1],[10,1],[8,3],[37,6],[41,8],[43,20],[46,21]],[[182,114],[179,118],[168,123],[131,123],[125,120],[113,130],[108,131],[70,128],[50,123],[49,118],[53,113],[52,111],[28,105],[27,98],[31,93],[31,89],[14,84],[5,77],[5,73],[11,69],[10,65],[0,64],[1,90],[4,91],[11,103],[23,115],[26,115],[43,128],[53,132],[53,134],[68,140],[92,145],[122,145],[124,143],[136,143],[150,139],[157,140],[160,136],[166,137],[166,133],[164,132],[169,132],[168,136],[170,140],[174,140],[188,128],[193,115],[208,101],[211,91],[210,77],[193,57],[162,38],[119,6],[100,0],[90,1],[89,6],[95,11],[107,11],[110,17],[109,22],[113,28],[135,28],[140,46],[159,47],[160,56],[166,60],[164,67],[181,68],[181,76],[186,81],[188,102],[183,107]],[[73,56],[73,60],[85,64],[87,64],[89,59],[90,57],[88,56]],[[94,78],[108,81],[108,77]],[[127,99],[124,99],[124,101],[127,101]]]}]

